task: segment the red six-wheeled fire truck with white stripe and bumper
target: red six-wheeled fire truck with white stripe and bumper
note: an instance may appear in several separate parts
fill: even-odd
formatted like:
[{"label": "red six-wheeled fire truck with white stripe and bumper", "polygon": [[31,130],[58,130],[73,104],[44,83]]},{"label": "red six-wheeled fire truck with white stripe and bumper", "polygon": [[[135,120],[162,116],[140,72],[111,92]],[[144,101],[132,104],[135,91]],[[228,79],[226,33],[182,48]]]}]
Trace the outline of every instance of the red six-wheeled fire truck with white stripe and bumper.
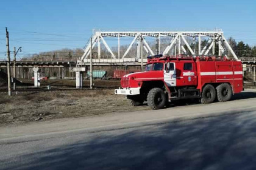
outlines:
[{"label": "red six-wheeled fire truck with white stripe and bumper", "polygon": [[155,55],[148,57],[144,72],[124,75],[115,94],[127,95],[132,106],[147,101],[152,109],[162,109],[181,99],[228,101],[242,90],[241,61],[225,56]]}]

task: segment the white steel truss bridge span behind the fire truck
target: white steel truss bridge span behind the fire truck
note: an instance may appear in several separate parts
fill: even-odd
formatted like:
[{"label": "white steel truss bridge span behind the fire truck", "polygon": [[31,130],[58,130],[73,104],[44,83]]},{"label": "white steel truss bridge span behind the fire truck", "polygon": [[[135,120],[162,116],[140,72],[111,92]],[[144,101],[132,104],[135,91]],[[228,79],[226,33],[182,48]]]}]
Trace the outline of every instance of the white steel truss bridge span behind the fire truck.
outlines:
[{"label": "white steel truss bridge span behind the fire truck", "polygon": [[[129,46],[126,51],[121,54],[121,43],[122,38],[132,38]],[[105,41],[105,38],[117,38],[118,47],[115,52],[113,52],[110,45]],[[158,46],[156,47],[155,52],[152,50],[152,46],[149,46],[148,38],[155,38]],[[166,41],[163,42],[162,39],[169,38],[169,42],[166,44]],[[238,57],[233,52],[230,47],[227,39],[224,37],[221,30],[216,30],[212,32],[172,32],[172,31],[163,31],[163,32],[118,32],[118,31],[94,31],[91,36],[92,39],[92,48],[98,46],[98,55],[93,58],[93,63],[115,63],[115,64],[136,64],[146,62],[147,55],[156,55],[162,53],[163,55],[193,55],[193,56],[204,56],[209,55],[226,55],[230,53],[233,58],[238,60]],[[202,44],[202,39],[207,39],[207,43]],[[197,49],[195,50],[195,44],[197,42]],[[96,45],[97,44],[97,45]],[[133,58],[127,58],[127,54],[132,49],[133,45],[137,45],[137,51]],[[107,52],[110,53],[110,59],[104,59],[101,55],[102,45],[107,49]],[[162,48],[162,46],[164,48]],[[215,53],[216,46],[218,46],[218,53]],[[142,49],[141,49],[142,48]],[[90,53],[91,53],[91,43],[87,42],[84,48],[84,55],[77,61],[77,66],[83,66],[90,63]],[[141,50],[144,53],[141,53]],[[130,62],[129,62],[130,61]]]}]

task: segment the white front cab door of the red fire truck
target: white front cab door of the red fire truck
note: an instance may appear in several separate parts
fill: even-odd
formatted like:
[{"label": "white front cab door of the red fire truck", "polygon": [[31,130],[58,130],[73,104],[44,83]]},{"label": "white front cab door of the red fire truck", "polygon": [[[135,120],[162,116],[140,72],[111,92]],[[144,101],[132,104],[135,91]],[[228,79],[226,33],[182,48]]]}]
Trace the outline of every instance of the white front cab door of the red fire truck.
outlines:
[{"label": "white front cab door of the red fire truck", "polygon": [[176,86],[176,70],[175,63],[165,63],[165,70],[163,71],[163,78],[167,86]]}]

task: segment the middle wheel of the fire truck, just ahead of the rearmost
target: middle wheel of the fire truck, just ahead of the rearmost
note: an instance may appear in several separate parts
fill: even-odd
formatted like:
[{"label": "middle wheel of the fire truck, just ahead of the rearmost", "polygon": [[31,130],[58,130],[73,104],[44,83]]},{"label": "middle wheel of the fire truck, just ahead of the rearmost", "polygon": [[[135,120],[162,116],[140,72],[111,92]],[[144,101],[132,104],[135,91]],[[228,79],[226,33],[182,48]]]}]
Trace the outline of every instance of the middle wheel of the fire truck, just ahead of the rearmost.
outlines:
[{"label": "middle wheel of the fire truck, just ahead of the rearmost", "polygon": [[216,98],[216,90],[211,84],[207,84],[202,90],[201,103],[213,103]]}]

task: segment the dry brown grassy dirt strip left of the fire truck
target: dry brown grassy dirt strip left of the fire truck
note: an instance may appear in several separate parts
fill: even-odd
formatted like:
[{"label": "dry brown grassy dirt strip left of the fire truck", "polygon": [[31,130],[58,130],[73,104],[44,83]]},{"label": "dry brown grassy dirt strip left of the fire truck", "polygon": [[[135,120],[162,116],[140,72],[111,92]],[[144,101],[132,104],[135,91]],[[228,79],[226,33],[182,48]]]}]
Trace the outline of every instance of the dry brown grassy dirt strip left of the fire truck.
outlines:
[{"label": "dry brown grassy dirt strip left of the fire truck", "polygon": [[148,106],[129,106],[126,98],[115,95],[113,89],[20,92],[12,97],[1,94],[0,126],[145,109]]}]

